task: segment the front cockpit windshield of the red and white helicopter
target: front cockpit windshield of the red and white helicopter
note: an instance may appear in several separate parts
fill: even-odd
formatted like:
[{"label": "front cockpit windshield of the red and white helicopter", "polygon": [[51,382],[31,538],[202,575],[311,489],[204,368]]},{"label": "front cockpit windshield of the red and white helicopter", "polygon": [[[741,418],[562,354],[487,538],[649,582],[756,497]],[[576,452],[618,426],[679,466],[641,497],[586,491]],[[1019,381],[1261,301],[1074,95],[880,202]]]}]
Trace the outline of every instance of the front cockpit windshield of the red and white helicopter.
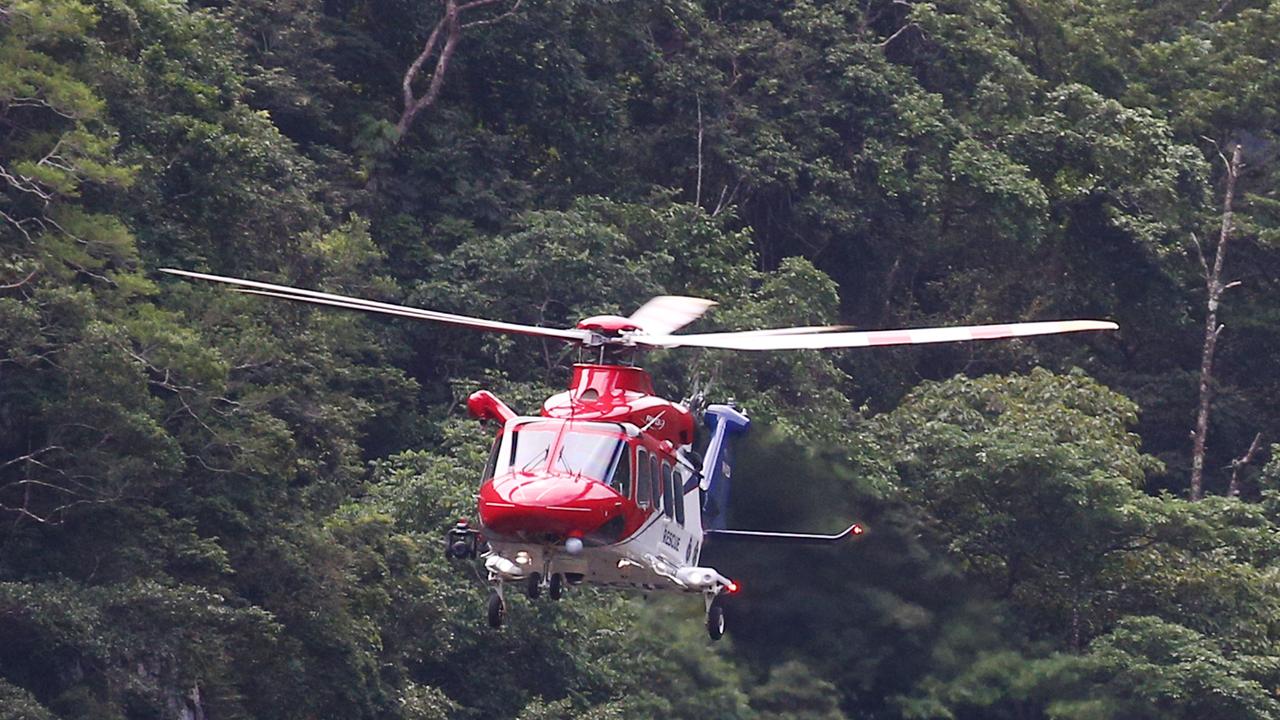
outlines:
[{"label": "front cockpit windshield of the red and white helicopter", "polygon": [[607,483],[620,457],[630,462],[622,452],[625,437],[605,423],[526,423],[504,438],[494,470],[552,471]]}]

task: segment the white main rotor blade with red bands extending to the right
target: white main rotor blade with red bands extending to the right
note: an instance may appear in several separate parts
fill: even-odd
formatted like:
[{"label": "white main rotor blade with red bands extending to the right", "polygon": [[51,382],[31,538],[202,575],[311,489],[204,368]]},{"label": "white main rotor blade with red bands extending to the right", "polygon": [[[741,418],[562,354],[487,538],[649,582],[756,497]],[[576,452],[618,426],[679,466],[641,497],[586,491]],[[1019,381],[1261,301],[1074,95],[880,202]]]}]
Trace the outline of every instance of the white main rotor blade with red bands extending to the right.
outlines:
[{"label": "white main rotor blade with red bands extending to the right", "polygon": [[817,334],[705,333],[689,336],[637,334],[634,341],[654,347],[718,347],[723,350],[822,350],[828,347],[879,347],[890,345],[925,345],[932,342],[965,342],[1037,334],[1075,333],[1083,331],[1115,331],[1119,325],[1106,320],[1050,320],[1044,323],[1009,323],[998,325],[964,325],[955,328],[914,328],[901,331],[867,331]]}]

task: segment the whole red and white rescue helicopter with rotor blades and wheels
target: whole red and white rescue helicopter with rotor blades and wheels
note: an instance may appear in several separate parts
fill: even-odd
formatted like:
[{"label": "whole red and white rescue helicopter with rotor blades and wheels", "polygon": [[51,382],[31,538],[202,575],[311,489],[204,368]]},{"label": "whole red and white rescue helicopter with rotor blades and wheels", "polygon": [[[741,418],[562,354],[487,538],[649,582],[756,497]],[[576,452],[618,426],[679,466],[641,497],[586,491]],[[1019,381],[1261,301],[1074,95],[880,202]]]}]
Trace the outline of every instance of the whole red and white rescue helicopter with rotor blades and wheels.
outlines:
[{"label": "whole red and white rescue helicopter with rotor blades and wheels", "polygon": [[[817,350],[961,342],[1116,329],[1102,320],[1056,320],[951,328],[849,332],[842,327],[773,328],[672,334],[714,302],[654,297],[630,318],[599,315],[575,328],[486,320],[314,290],[187,270],[187,278],[237,286],[241,292],[430,320],[575,343],[594,361],[573,365],[568,391],[549,397],[540,415],[520,415],[488,391],[472,393],[470,413],[498,423],[477,502],[479,527],[460,520],[445,536],[454,559],[483,557],[493,589],[489,624],[502,626],[503,591],[559,600],[566,584],[701,594],[712,639],[724,633],[723,600],[737,583],[699,564],[710,538],[828,544],[859,536],[726,529],[732,438],[750,420],[730,405],[672,402],[654,395],[649,374],[632,365],[648,348]],[[694,406],[691,406],[694,405]],[[707,445],[694,450],[698,423]]]}]

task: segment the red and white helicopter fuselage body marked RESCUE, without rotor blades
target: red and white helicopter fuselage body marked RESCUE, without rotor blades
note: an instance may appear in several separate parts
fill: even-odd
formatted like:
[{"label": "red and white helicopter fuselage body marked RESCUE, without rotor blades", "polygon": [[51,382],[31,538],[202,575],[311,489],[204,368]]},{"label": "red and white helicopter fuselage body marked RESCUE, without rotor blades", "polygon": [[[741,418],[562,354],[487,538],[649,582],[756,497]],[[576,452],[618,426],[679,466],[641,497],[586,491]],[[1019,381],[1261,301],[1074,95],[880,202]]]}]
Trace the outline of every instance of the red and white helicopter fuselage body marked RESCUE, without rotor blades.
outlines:
[{"label": "red and white helicopter fuselage body marked RESCUE, without rotor blades", "polygon": [[509,560],[490,571],[644,589],[714,585],[677,579],[701,551],[699,468],[687,456],[694,421],[684,405],[653,395],[644,370],[576,365],[571,389],[548,398],[541,416],[498,402],[481,397],[472,407],[503,420],[477,503],[492,552]]}]

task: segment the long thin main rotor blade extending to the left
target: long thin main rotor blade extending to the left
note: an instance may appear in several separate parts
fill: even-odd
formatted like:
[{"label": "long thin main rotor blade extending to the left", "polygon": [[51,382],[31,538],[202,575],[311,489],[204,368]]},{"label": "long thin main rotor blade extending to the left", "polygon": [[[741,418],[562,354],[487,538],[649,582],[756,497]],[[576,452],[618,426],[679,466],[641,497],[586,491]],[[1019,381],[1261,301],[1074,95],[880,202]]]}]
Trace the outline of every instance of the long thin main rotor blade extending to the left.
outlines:
[{"label": "long thin main rotor blade extending to the left", "polygon": [[189,270],[175,270],[173,268],[160,268],[160,272],[169,273],[173,275],[182,275],[187,278],[196,278],[201,281],[232,284],[241,288],[248,288],[248,290],[241,290],[241,292],[246,292],[248,295],[262,295],[266,297],[279,297],[283,300],[311,302],[315,305],[329,305],[332,307],[346,307],[348,310],[364,310],[365,313],[380,313],[383,315],[413,318],[415,320],[431,320],[435,323],[447,323],[451,325],[462,325],[467,328],[494,331],[500,333],[553,337],[573,342],[582,342],[588,337],[590,337],[590,333],[579,329],[540,328],[538,325],[521,325],[518,323],[485,320],[483,318],[471,318],[468,315],[454,315],[452,313],[440,313],[438,310],[424,310],[421,307],[410,307],[407,305],[393,305],[390,302],[378,302],[374,300],[364,300],[360,297],[349,297],[346,295],[334,295],[332,292],[303,290],[300,287],[264,283],[257,281],[246,281],[241,278],[228,278],[224,275],[211,275],[207,273],[192,273]]}]

